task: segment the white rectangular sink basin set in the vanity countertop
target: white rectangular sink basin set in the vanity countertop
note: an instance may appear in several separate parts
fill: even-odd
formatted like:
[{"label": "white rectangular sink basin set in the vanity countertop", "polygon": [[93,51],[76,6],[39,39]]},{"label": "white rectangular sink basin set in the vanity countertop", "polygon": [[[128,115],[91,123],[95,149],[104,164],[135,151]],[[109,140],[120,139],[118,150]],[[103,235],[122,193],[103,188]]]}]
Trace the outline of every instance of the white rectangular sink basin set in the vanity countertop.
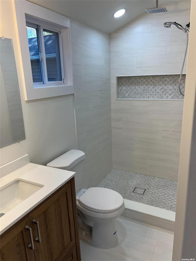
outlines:
[{"label": "white rectangular sink basin set in the vanity countertop", "polygon": [[31,183],[22,179],[8,183],[0,190],[0,212],[3,214],[7,213],[42,187],[43,185],[41,184]]}]

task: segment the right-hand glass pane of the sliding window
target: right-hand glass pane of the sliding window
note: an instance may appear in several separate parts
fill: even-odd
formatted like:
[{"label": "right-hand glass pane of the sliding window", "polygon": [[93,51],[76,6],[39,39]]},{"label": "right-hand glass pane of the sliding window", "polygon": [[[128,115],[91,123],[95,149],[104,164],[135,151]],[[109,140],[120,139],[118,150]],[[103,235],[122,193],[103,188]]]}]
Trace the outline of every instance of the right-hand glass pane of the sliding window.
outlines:
[{"label": "right-hand glass pane of the sliding window", "polygon": [[43,29],[48,81],[62,81],[58,32]]}]

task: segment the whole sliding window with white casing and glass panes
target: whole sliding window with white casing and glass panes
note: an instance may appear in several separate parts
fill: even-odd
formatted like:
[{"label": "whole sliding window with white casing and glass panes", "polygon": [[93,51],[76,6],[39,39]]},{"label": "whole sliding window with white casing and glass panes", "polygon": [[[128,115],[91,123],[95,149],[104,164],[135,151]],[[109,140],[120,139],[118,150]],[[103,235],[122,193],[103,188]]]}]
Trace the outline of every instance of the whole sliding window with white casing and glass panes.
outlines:
[{"label": "whole sliding window with white casing and glass panes", "polygon": [[74,93],[70,19],[28,1],[14,1],[25,100]]}]

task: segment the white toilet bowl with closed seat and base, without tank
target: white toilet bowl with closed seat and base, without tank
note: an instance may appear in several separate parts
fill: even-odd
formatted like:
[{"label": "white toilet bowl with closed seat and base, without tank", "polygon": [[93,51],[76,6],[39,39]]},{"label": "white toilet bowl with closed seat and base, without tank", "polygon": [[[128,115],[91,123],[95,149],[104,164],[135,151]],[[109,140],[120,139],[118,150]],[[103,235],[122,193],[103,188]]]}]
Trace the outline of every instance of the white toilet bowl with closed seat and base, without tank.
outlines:
[{"label": "white toilet bowl with closed seat and base, without tank", "polygon": [[82,195],[79,191],[76,200],[78,214],[89,226],[85,229],[79,223],[81,239],[98,248],[115,247],[118,243],[115,219],[124,211],[123,197],[114,190],[96,187],[87,189]]}]

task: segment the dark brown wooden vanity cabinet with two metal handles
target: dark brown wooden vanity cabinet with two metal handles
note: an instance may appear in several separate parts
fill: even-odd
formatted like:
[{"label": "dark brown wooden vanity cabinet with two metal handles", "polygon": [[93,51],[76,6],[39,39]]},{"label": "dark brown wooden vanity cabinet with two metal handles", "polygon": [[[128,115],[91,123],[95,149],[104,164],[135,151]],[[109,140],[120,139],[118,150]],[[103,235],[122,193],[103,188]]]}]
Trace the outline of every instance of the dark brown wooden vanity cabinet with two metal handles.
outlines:
[{"label": "dark brown wooden vanity cabinet with two metal handles", "polygon": [[6,232],[1,260],[81,260],[74,178]]}]

